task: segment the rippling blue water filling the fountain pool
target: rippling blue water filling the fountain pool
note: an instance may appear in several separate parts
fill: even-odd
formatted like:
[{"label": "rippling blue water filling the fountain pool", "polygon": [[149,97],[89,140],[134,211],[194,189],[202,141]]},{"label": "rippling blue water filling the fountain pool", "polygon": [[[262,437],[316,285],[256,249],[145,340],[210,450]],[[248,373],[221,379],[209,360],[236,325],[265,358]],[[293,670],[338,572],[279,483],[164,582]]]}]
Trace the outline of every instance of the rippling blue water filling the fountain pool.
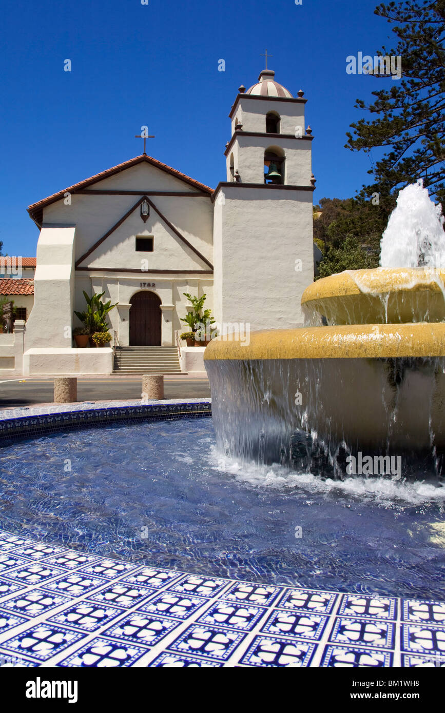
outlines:
[{"label": "rippling blue water filling the fountain pool", "polygon": [[0,451],[0,527],[137,563],[444,599],[445,488],[335,482],[218,453],[212,421],[111,424]]}]

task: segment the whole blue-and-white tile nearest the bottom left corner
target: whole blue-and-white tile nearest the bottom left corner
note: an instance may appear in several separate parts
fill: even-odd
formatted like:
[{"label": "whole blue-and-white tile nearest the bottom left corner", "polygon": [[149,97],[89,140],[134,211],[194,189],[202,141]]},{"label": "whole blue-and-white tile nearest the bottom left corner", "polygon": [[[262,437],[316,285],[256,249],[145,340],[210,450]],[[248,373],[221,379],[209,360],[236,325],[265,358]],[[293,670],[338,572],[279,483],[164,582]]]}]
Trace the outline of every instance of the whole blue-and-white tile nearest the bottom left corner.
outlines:
[{"label": "whole blue-and-white tile nearest the bottom left corner", "polygon": [[11,639],[2,641],[1,646],[18,655],[26,654],[44,662],[75,644],[82,637],[83,634],[80,632],[42,622]]}]

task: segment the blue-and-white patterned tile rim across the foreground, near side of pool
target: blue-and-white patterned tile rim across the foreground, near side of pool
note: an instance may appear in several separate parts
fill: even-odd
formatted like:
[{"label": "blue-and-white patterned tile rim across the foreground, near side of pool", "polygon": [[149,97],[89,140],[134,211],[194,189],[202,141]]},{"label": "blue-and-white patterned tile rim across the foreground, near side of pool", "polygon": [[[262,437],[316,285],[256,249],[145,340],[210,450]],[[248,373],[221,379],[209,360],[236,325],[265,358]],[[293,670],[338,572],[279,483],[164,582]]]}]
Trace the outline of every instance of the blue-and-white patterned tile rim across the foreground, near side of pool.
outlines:
[{"label": "blue-and-white patterned tile rim across the foreground, near side of pool", "polygon": [[[21,550],[25,546],[29,548],[39,548],[42,546],[47,550],[62,550],[58,555],[68,556],[81,555],[81,550],[72,550],[66,546],[51,545],[43,540],[24,535],[16,535],[0,528],[0,555],[14,555],[14,550]],[[6,545],[5,540],[11,540],[10,545]],[[26,543],[26,545],[24,545]],[[34,566],[45,567],[48,565],[48,558],[53,555],[49,553],[44,558],[33,558],[32,553],[26,554],[29,559],[28,568]],[[63,593],[58,592],[56,587],[59,581],[65,582],[68,578],[75,579],[79,575],[84,576],[83,568],[85,564],[78,562],[71,570],[60,572],[54,570],[46,575],[44,580],[36,583],[31,580],[22,579],[15,584],[14,573],[23,569],[23,565],[11,564],[6,567],[6,573],[1,577],[3,583],[11,585],[6,593],[0,593],[0,611],[4,615],[5,625],[0,630],[0,658],[10,657],[16,660],[19,658],[20,665],[24,666],[78,666],[82,664],[82,655],[92,652],[100,642],[109,647],[110,655],[113,657],[114,650],[125,650],[126,658],[123,665],[151,667],[158,666],[161,660],[169,659],[173,662],[182,661],[185,665],[210,665],[213,661],[218,666],[282,666],[300,665],[310,667],[326,667],[334,665],[336,657],[355,657],[354,665],[362,665],[362,657],[367,658],[369,665],[384,665],[385,667],[410,667],[411,665],[437,665],[443,667],[445,664],[445,652],[427,651],[423,647],[423,642],[429,644],[425,634],[443,634],[445,636],[445,622],[437,620],[434,623],[428,622],[406,622],[404,612],[405,605],[434,605],[445,607],[445,602],[412,600],[406,597],[391,597],[389,595],[369,595],[365,593],[342,593],[327,590],[317,590],[314,588],[302,588],[289,585],[267,585],[262,583],[248,582],[232,578],[213,578],[212,575],[197,575],[170,568],[158,567],[156,565],[138,565],[127,563],[126,560],[115,559],[110,556],[103,557],[94,555],[96,564],[107,565],[112,561],[116,567],[121,565],[131,565],[131,570],[123,570],[116,574],[111,580],[96,577],[96,581],[83,590],[75,592],[63,589]],[[162,575],[171,575],[163,577]],[[101,595],[106,595],[111,590],[118,590],[122,587],[135,587],[129,580],[129,575],[144,576],[147,580],[138,584],[141,591],[138,597],[127,602],[109,600],[106,602],[108,611],[106,616],[96,620],[96,612],[92,611],[92,619],[82,622],[81,616],[89,616],[88,607],[100,609],[105,602]],[[90,577],[91,579],[91,577]],[[51,586],[52,585],[52,586]],[[213,585],[213,589],[210,587]],[[194,588],[190,590],[190,588]],[[206,592],[199,592],[198,587],[206,587]],[[32,605],[36,602],[37,593],[51,598],[44,610],[32,610]],[[329,612],[309,610],[306,605],[295,605],[295,608],[283,609],[284,603],[290,594],[294,593],[300,598],[312,600],[313,596],[324,595],[332,599],[332,607]],[[126,593],[123,593],[124,596]],[[245,594],[249,596],[246,598]],[[231,596],[232,595],[232,596]],[[262,597],[261,601],[256,601],[253,597]],[[30,608],[23,609],[16,607],[16,599],[21,602],[29,601]],[[34,597],[34,598],[33,598]],[[157,603],[161,600],[167,603],[171,598],[185,597],[185,600],[194,598],[193,606],[183,612],[173,610],[158,609]],[[394,603],[394,610],[391,609],[391,620],[380,618],[377,614],[360,615],[351,611],[349,614],[342,614],[342,602],[347,599],[357,600],[381,600],[391,605]],[[172,602],[175,606],[178,602]],[[179,605],[184,606],[183,601]],[[85,610],[86,607],[86,610]],[[235,617],[244,617],[244,621],[237,619],[234,624],[230,621],[230,607],[235,609]],[[228,608],[228,612],[227,612]],[[391,608],[391,607],[390,607]],[[250,611],[249,611],[250,610]],[[255,612],[253,612],[255,610]],[[246,614],[247,611],[247,614]],[[66,615],[76,612],[78,619],[68,622]],[[441,612],[439,612],[441,614]],[[227,618],[217,618],[227,615]],[[293,619],[297,619],[296,626],[300,627],[300,619],[305,620],[303,626],[307,630],[293,630],[286,632],[282,627],[289,630],[293,625]],[[206,619],[208,621],[206,621]],[[148,639],[136,640],[135,633],[121,632],[121,625],[126,623],[131,626],[143,626],[147,620],[148,628],[145,632],[151,636]],[[160,622],[158,630],[150,628],[150,621]],[[142,621],[142,623],[141,623]],[[320,625],[322,621],[322,626]],[[336,640],[336,632],[341,622],[348,622],[354,635],[351,640],[346,640],[342,633],[342,640]],[[367,640],[366,636],[357,640],[355,638],[354,624],[360,623],[367,627],[367,631],[375,635],[376,627],[384,632],[385,627],[390,637],[387,642],[381,643],[375,640]],[[416,631],[417,640],[416,640]],[[54,647],[51,654],[40,657],[34,650],[20,650],[21,640],[33,637],[33,632],[53,631],[59,632],[64,637],[60,647]],[[408,636],[412,630],[412,641]],[[155,635],[154,635],[154,633]],[[196,642],[196,635],[203,642],[203,647],[207,639],[203,635],[223,635],[227,640],[227,646],[223,650],[209,652],[207,649],[195,650],[190,648],[188,642],[191,636]],[[347,634],[347,632],[346,632]],[[346,637],[347,638],[347,637]],[[212,643],[210,641],[210,643]],[[284,649],[286,652],[278,652],[270,660],[272,651],[270,647]],[[114,649],[113,649],[114,647]],[[439,647],[439,644],[438,644]],[[137,650],[137,651],[136,651]],[[135,655],[131,655],[131,652]],[[263,657],[263,654],[265,655]],[[280,657],[290,658],[291,663],[283,664]],[[108,654],[107,654],[108,656]],[[369,664],[373,660],[374,663]],[[332,661],[334,664],[332,664]],[[341,661],[340,661],[341,662]],[[432,664],[431,664],[432,662]]]}]

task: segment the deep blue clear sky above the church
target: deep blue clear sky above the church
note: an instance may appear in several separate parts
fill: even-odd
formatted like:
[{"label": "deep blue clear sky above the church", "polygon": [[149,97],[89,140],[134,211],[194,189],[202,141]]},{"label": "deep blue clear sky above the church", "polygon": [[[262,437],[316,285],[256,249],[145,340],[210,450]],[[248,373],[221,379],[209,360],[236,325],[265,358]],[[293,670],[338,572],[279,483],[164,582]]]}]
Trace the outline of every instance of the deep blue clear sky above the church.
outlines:
[{"label": "deep blue clear sky above the church", "polygon": [[[347,55],[394,46],[377,0],[14,0],[2,7],[1,222],[9,255],[35,255],[26,207],[78,180],[148,153],[215,187],[237,88],[269,66],[307,98],[314,202],[347,198],[369,158],[343,148],[378,80],[347,75]],[[388,38],[391,38],[388,40]],[[63,60],[72,61],[71,73]],[[226,71],[218,72],[224,58]],[[392,81],[392,80],[385,80]],[[379,85],[380,86],[380,85]]]}]

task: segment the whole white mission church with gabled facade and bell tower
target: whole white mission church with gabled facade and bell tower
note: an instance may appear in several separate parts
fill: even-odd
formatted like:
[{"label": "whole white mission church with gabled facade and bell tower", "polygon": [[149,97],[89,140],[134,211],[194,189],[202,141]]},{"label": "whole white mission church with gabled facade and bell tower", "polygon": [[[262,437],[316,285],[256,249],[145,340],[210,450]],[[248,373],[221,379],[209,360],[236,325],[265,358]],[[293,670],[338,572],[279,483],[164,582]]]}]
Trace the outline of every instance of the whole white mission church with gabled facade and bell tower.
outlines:
[{"label": "whole white mission church with gabled facade and bell tower", "polygon": [[314,276],[305,103],[270,69],[241,86],[225,180],[215,189],[143,153],[31,205],[40,228],[34,306],[24,329],[16,323],[7,369],[0,342],[0,375],[113,371],[113,349],[73,347],[83,290],[118,302],[108,318],[121,353],[175,352],[183,371],[203,370],[203,348],[179,340],[190,307],[184,292],[205,292],[218,324],[301,324],[300,299]]}]

